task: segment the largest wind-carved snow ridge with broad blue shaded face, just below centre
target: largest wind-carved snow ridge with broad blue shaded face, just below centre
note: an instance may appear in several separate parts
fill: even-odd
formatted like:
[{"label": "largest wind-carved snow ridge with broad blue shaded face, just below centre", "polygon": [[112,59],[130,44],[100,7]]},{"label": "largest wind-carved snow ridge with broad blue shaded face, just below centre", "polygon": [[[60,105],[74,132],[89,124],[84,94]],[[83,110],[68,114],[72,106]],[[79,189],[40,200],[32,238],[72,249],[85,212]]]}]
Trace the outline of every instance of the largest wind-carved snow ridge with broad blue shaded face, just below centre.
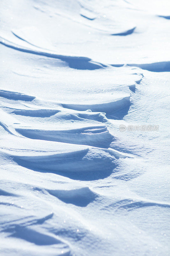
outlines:
[{"label": "largest wind-carved snow ridge with broad blue shaded face, just below centre", "polygon": [[[18,142],[18,148],[12,146],[16,141]],[[15,138],[11,137],[10,142],[7,143],[4,137],[1,151],[13,159],[14,162],[28,169],[39,172],[53,172],[72,179],[99,179],[99,177],[107,176],[113,171],[116,159],[131,157],[113,149],[84,145],[73,146],[69,143],[51,141],[45,144],[53,148],[52,151],[48,150],[48,152],[44,147],[42,150],[43,140],[41,140],[41,146],[38,146],[39,140],[33,140],[35,150],[29,150],[29,141],[24,137],[16,136]],[[9,149],[7,149],[8,145]],[[60,150],[57,152],[54,146],[57,146]],[[102,172],[103,168],[105,168],[105,173]]]}]

